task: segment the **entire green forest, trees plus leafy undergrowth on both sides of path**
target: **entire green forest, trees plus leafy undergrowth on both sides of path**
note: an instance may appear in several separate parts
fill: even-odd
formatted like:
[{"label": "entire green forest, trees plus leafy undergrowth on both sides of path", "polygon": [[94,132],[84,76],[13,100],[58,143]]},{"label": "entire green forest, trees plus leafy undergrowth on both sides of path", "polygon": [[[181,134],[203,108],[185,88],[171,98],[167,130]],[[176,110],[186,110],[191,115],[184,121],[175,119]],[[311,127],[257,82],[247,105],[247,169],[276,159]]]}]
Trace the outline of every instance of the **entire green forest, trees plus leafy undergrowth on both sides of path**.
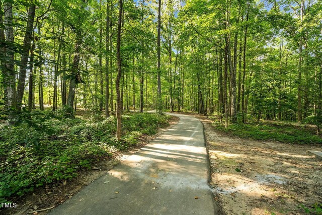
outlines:
[{"label": "entire green forest, trees plus leafy undergrowth on both sides of path", "polygon": [[164,112],[322,143],[321,1],[1,0],[0,43],[1,202],[155,134]]}]

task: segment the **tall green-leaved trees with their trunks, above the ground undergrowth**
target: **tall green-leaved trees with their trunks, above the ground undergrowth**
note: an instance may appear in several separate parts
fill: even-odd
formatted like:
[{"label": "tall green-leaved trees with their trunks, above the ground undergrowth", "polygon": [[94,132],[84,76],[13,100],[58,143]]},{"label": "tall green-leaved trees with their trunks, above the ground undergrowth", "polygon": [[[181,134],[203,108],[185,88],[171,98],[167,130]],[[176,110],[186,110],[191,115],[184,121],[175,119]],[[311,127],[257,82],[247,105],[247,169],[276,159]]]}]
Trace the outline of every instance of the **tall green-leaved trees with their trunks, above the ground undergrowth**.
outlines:
[{"label": "tall green-leaved trees with their trunks, above the ground undergrowth", "polygon": [[9,123],[63,105],[321,123],[320,1],[1,1],[0,15]]}]

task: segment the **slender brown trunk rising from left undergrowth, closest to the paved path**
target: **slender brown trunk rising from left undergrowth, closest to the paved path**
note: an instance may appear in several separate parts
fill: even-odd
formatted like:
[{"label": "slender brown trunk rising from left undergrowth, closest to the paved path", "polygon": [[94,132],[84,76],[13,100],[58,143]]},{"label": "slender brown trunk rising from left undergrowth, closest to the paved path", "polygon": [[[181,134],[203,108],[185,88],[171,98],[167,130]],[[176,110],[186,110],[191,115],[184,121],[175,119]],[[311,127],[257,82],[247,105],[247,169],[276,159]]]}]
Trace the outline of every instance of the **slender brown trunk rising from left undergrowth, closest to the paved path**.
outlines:
[{"label": "slender brown trunk rising from left undergrowth, closest to the paved path", "polygon": [[121,106],[121,95],[120,95],[120,79],[122,77],[122,67],[121,67],[121,53],[120,53],[120,47],[121,47],[121,25],[122,25],[122,11],[123,11],[123,0],[119,0],[119,19],[118,19],[118,26],[117,26],[117,42],[116,42],[116,58],[117,58],[117,77],[116,77],[116,103],[117,103],[117,109],[116,109],[116,120],[117,120],[117,126],[116,126],[116,138],[118,140],[121,139],[121,113],[122,113],[122,106]]}]

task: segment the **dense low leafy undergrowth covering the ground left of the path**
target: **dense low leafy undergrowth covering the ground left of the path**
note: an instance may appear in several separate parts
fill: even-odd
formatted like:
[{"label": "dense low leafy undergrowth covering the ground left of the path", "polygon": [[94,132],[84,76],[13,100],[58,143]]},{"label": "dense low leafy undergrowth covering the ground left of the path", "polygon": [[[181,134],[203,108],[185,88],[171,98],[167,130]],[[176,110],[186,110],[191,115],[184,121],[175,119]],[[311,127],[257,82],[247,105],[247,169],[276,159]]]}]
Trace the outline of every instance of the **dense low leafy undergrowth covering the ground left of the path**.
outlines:
[{"label": "dense low leafy undergrowth covering the ground left of the path", "polygon": [[0,202],[75,177],[100,159],[135,145],[140,135],[155,134],[158,127],[168,124],[163,115],[123,115],[122,139],[118,141],[113,116],[103,120],[82,116],[37,120],[31,119],[35,125],[41,124],[41,129],[30,123],[0,125]]}]

